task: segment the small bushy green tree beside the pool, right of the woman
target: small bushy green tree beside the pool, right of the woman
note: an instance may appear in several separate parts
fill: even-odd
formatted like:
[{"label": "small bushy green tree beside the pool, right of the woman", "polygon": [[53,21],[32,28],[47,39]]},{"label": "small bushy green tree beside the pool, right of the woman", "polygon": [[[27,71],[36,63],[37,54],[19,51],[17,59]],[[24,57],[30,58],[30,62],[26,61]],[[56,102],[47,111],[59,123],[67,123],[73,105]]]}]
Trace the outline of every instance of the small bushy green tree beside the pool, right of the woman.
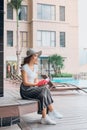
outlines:
[{"label": "small bushy green tree beside the pool, right of the woman", "polygon": [[49,57],[48,61],[52,65],[55,75],[61,74],[61,69],[64,67],[64,58],[54,54]]}]

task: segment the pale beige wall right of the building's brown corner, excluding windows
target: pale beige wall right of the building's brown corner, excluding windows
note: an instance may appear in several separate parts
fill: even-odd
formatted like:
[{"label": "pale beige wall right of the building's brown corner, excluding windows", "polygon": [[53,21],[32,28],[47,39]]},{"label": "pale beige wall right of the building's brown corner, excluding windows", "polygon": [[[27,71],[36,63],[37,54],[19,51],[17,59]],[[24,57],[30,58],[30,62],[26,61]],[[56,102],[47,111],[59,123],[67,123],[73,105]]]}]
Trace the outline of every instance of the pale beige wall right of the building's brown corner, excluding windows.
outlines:
[{"label": "pale beige wall right of the building's brown corner, excluding windows", "polygon": [[[37,3],[56,5],[56,20],[38,20]],[[66,20],[59,21],[59,6],[66,8]],[[33,0],[33,47],[43,50],[43,55],[54,53],[66,57],[64,72],[78,73],[78,6],[77,0]],[[38,47],[37,30],[56,31],[56,47]],[[66,32],[66,47],[61,48],[59,45],[59,32]],[[49,50],[49,51],[48,51]]]}]

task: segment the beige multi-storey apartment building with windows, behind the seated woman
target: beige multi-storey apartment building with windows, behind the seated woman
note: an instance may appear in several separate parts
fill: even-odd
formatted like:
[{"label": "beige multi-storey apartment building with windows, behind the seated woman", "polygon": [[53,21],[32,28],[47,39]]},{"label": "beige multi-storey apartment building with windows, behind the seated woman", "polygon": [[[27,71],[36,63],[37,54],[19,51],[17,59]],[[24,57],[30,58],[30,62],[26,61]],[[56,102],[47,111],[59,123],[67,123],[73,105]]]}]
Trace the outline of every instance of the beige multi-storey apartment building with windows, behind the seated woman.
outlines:
[{"label": "beige multi-storey apartment building with windows, behind the seated woman", "polygon": [[[16,12],[4,0],[4,68],[16,69]],[[63,72],[78,72],[78,0],[23,0],[19,10],[20,64],[28,48],[42,50],[40,71],[48,71],[48,57],[65,58]]]}]

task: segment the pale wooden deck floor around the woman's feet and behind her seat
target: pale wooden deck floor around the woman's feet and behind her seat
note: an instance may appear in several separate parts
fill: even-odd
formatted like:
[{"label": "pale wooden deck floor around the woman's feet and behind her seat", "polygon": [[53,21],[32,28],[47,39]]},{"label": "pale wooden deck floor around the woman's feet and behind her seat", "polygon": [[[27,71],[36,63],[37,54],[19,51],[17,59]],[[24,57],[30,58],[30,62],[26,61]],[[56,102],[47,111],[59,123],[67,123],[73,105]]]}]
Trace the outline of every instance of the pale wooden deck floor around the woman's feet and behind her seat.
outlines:
[{"label": "pale wooden deck floor around the woman's feet and behind her seat", "polygon": [[[37,113],[22,116],[27,125],[31,126],[31,130],[87,130],[87,94],[82,92],[63,91],[52,92],[54,99],[54,107],[63,114],[63,119],[56,120],[57,125],[40,124],[41,115]],[[5,96],[19,96],[19,86],[15,84],[5,83]],[[0,130],[20,130],[17,125],[11,127],[0,128]],[[24,128],[24,130],[28,130]]]}]

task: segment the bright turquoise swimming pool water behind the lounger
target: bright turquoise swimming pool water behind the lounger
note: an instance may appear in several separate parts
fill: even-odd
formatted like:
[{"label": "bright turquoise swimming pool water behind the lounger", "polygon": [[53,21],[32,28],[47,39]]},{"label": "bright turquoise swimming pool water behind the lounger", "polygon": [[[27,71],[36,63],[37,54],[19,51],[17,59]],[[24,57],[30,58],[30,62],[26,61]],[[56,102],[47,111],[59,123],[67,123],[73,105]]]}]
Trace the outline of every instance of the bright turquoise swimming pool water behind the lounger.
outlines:
[{"label": "bright turquoise swimming pool water behind the lounger", "polygon": [[79,87],[87,87],[87,80],[76,80],[74,78],[53,78],[52,82],[69,83]]}]

